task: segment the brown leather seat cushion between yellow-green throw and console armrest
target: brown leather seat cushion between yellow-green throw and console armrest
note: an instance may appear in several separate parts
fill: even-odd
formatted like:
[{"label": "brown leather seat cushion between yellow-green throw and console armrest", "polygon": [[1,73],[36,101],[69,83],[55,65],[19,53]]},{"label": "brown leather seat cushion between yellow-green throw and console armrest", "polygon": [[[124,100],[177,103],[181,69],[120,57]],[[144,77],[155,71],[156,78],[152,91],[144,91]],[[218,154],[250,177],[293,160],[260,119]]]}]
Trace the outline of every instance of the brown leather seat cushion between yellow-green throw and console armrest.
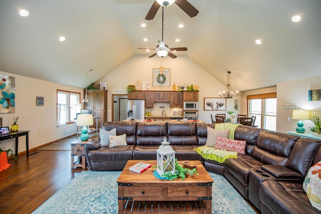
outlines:
[{"label": "brown leather seat cushion between yellow-green throw and console armrest", "polygon": [[251,168],[260,168],[263,163],[247,154],[237,154],[237,158],[226,159],[223,163],[226,170],[233,174],[241,183],[248,186],[248,174]]}]

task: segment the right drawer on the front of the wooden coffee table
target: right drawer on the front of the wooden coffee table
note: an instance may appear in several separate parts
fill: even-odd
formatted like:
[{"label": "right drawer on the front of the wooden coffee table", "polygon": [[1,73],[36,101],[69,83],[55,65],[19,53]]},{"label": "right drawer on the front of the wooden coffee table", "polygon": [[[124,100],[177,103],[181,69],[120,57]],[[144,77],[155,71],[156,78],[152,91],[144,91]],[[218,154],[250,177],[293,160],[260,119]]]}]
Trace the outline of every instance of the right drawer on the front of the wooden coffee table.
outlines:
[{"label": "right drawer on the front of the wooden coffee table", "polygon": [[206,196],[206,186],[186,186],[186,187],[169,187],[167,189],[167,195],[169,197],[176,196]]}]

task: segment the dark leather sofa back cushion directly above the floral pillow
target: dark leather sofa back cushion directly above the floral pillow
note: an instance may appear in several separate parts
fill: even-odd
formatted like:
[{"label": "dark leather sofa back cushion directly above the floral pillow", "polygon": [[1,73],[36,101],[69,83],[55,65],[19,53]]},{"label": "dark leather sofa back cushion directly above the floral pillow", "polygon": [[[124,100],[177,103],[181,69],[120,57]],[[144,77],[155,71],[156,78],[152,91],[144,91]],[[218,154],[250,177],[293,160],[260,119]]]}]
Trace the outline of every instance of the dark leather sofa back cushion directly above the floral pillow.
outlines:
[{"label": "dark leather sofa back cushion directly above the floral pillow", "polygon": [[320,142],[315,141],[315,139],[300,137],[295,142],[285,166],[297,171],[304,177],[311,166],[312,157]]}]

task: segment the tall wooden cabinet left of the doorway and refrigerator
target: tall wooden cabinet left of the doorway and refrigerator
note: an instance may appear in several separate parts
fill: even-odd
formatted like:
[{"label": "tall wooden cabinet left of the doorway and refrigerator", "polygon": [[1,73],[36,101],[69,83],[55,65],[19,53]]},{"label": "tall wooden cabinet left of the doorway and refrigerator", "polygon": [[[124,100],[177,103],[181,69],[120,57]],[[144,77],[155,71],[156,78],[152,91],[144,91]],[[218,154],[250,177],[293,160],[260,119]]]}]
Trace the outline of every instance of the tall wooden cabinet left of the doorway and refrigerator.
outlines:
[{"label": "tall wooden cabinet left of the doorway and refrigerator", "polygon": [[[107,121],[107,92],[106,90],[87,90],[87,97],[90,100],[88,103],[84,103],[84,110],[91,111],[93,117],[98,118],[98,127],[94,121],[94,128],[100,128],[103,121]],[[84,94],[86,91],[84,90]]]}]

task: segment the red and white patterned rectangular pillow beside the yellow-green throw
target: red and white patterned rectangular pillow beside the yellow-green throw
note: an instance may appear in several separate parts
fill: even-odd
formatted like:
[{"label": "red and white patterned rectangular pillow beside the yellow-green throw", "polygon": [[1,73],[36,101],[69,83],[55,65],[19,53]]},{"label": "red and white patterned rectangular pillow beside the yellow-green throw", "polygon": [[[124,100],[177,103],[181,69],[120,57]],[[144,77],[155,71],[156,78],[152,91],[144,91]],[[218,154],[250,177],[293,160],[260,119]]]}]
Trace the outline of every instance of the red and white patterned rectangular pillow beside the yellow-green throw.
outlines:
[{"label": "red and white patterned rectangular pillow beside the yellow-green throw", "polygon": [[225,139],[223,137],[216,138],[216,149],[223,149],[227,151],[236,151],[242,154],[245,154],[245,140],[232,140],[232,139]]}]

